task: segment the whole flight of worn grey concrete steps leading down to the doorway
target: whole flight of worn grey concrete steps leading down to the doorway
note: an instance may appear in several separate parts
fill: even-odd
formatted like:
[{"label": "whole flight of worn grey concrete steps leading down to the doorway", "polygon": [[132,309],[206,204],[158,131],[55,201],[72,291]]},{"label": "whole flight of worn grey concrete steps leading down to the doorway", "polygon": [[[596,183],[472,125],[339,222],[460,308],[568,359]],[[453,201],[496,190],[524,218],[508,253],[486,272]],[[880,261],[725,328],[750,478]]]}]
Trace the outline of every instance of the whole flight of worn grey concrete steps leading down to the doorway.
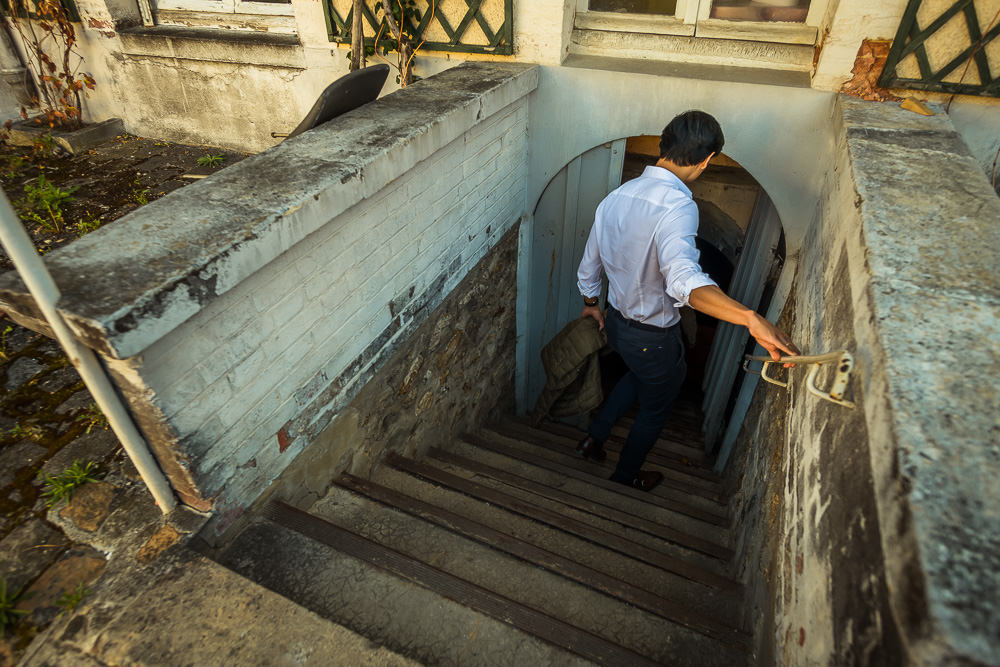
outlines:
[{"label": "whole flight of worn grey concrete steps leading down to the doorway", "polygon": [[[647,467],[607,479],[573,428],[508,419],[274,502],[218,556],[244,576],[426,664],[743,665],[726,498],[681,411]],[[444,444],[444,443],[443,443]]]}]

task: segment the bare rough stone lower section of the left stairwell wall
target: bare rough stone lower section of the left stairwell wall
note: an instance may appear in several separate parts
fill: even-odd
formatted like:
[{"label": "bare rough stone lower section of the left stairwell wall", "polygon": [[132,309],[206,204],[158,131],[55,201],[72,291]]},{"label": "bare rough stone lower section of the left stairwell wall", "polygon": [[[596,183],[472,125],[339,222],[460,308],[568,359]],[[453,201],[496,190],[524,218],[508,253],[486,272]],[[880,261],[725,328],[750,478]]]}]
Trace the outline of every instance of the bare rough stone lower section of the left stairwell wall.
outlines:
[{"label": "bare rough stone lower section of the left stairwell wall", "polygon": [[300,507],[388,450],[419,456],[513,411],[517,228],[484,257],[315,438],[268,496]]}]

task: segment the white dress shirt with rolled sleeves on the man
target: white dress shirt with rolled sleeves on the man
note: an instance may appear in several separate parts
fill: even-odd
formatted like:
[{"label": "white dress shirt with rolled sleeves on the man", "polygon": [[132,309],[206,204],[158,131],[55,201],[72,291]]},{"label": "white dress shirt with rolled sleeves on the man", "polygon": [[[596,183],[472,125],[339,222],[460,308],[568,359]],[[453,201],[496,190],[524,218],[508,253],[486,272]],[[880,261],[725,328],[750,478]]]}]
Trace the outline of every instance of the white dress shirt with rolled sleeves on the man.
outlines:
[{"label": "white dress shirt with rolled sleeves on the man", "polygon": [[697,233],[691,190],[667,169],[646,167],[597,207],[577,271],[580,294],[600,294],[603,270],[608,300],[626,318],[676,324],[691,290],[716,284],[698,265]]}]

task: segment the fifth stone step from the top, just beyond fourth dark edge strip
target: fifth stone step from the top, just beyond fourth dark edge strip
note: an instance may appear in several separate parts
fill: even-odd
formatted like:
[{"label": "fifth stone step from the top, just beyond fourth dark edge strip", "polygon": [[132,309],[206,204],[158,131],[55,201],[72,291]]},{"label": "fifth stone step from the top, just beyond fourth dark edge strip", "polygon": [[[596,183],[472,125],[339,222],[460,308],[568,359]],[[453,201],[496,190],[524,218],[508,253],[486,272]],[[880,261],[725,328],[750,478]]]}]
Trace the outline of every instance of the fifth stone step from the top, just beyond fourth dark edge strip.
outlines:
[{"label": "fifth stone step from the top, just beyond fourth dark edge strip", "polygon": [[[697,508],[682,506],[678,510],[677,508],[668,509],[654,505],[646,502],[649,496],[641,491],[630,489],[610,480],[595,479],[575,470],[567,474],[559,470],[556,465],[550,465],[544,460],[541,461],[541,465],[536,465],[531,461],[523,460],[522,456],[519,455],[519,450],[498,445],[475,434],[465,434],[461,439],[453,442],[451,451],[494,468],[507,470],[518,477],[526,478],[557,491],[586,498],[600,505],[642,517],[663,526],[677,528],[722,546],[728,546],[728,522]],[[623,493],[625,491],[636,491],[636,494]],[[645,497],[640,496],[640,494]]]}]

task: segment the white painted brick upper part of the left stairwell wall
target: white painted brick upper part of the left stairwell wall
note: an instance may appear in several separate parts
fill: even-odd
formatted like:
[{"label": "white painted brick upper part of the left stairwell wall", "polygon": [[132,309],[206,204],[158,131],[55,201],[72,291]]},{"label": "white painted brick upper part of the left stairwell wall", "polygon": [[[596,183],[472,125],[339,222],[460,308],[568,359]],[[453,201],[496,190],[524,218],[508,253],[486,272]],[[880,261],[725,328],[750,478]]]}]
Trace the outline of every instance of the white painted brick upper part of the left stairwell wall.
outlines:
[{"label": "white painted brick upper part of the left stairwell wall", "polygon": [[[420,298],[456,265],[443,298],[521,217],[527,122],[526,98],[483,119],[143,353],[142,375],[204,494],[221,492],[223,507],[252,501],[308,444],[290,432],[282,452],[278,432],[304,411],[328,422],[336,405],[316,397],[395,317],[390,340],[418,324],[390,301],[411,288]],[[321,400],[346,402],[371,363]]]}]

